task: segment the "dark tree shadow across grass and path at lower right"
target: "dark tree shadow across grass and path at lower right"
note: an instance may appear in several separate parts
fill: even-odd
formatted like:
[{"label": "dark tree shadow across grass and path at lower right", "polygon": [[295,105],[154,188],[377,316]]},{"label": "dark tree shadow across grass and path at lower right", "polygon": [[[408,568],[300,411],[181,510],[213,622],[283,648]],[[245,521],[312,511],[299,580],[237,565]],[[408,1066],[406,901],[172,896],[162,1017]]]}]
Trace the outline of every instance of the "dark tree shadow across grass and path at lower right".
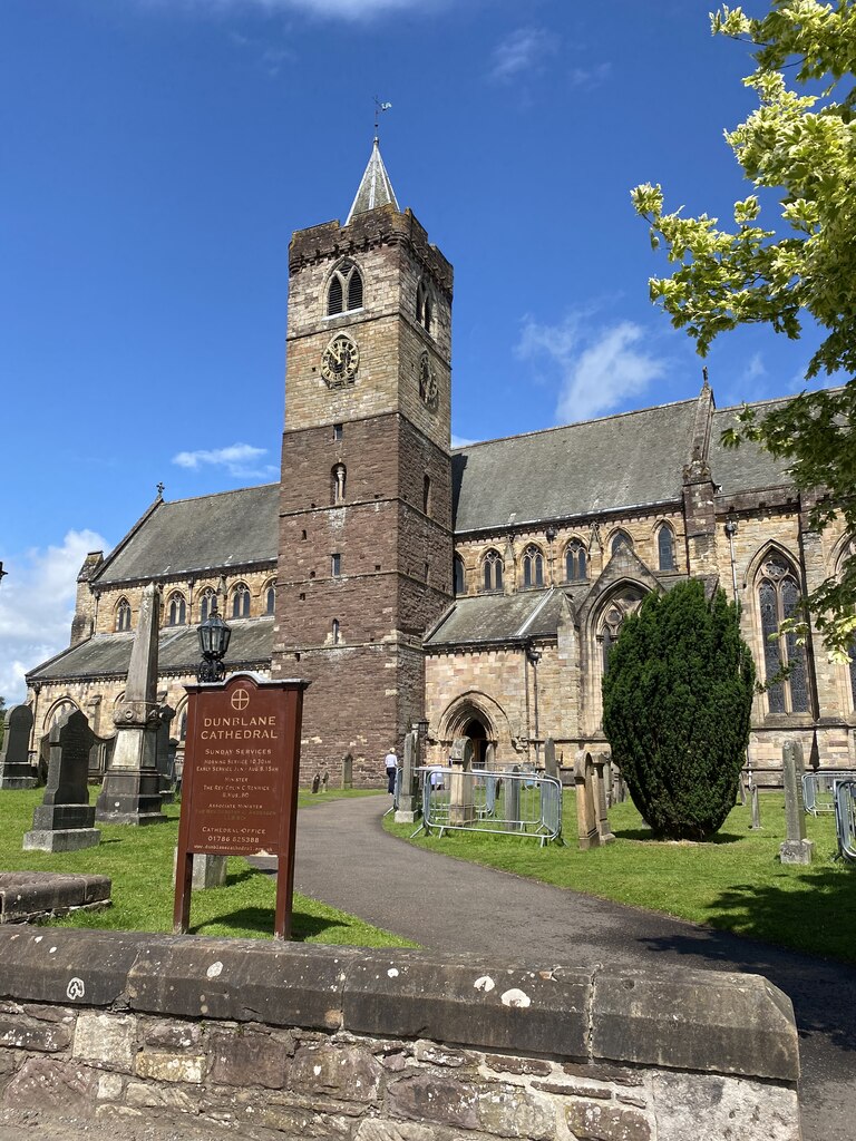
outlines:
[{"label": "dark tree shadow across grass and path at lower right", "polygon": [[[760,941],[781,939],[783,929],[802,930],[829,954],[856,957],[856,868],[817,868],[798,881],[802,890],[793,890],[788,876],[790,888],[743,883],[721,892],[709,907],[710,922],[740,922],[742,934],[697,928],[639,941],[653,952],[696,960],[687,965],[727,962],[764,974],[793,1003],[800,1037],[823,1035],[840,1050],[856,1051],[856,969]],[[842,1060],[840,1074],[829,1077],[853,1081],[853,1061]]]}]

